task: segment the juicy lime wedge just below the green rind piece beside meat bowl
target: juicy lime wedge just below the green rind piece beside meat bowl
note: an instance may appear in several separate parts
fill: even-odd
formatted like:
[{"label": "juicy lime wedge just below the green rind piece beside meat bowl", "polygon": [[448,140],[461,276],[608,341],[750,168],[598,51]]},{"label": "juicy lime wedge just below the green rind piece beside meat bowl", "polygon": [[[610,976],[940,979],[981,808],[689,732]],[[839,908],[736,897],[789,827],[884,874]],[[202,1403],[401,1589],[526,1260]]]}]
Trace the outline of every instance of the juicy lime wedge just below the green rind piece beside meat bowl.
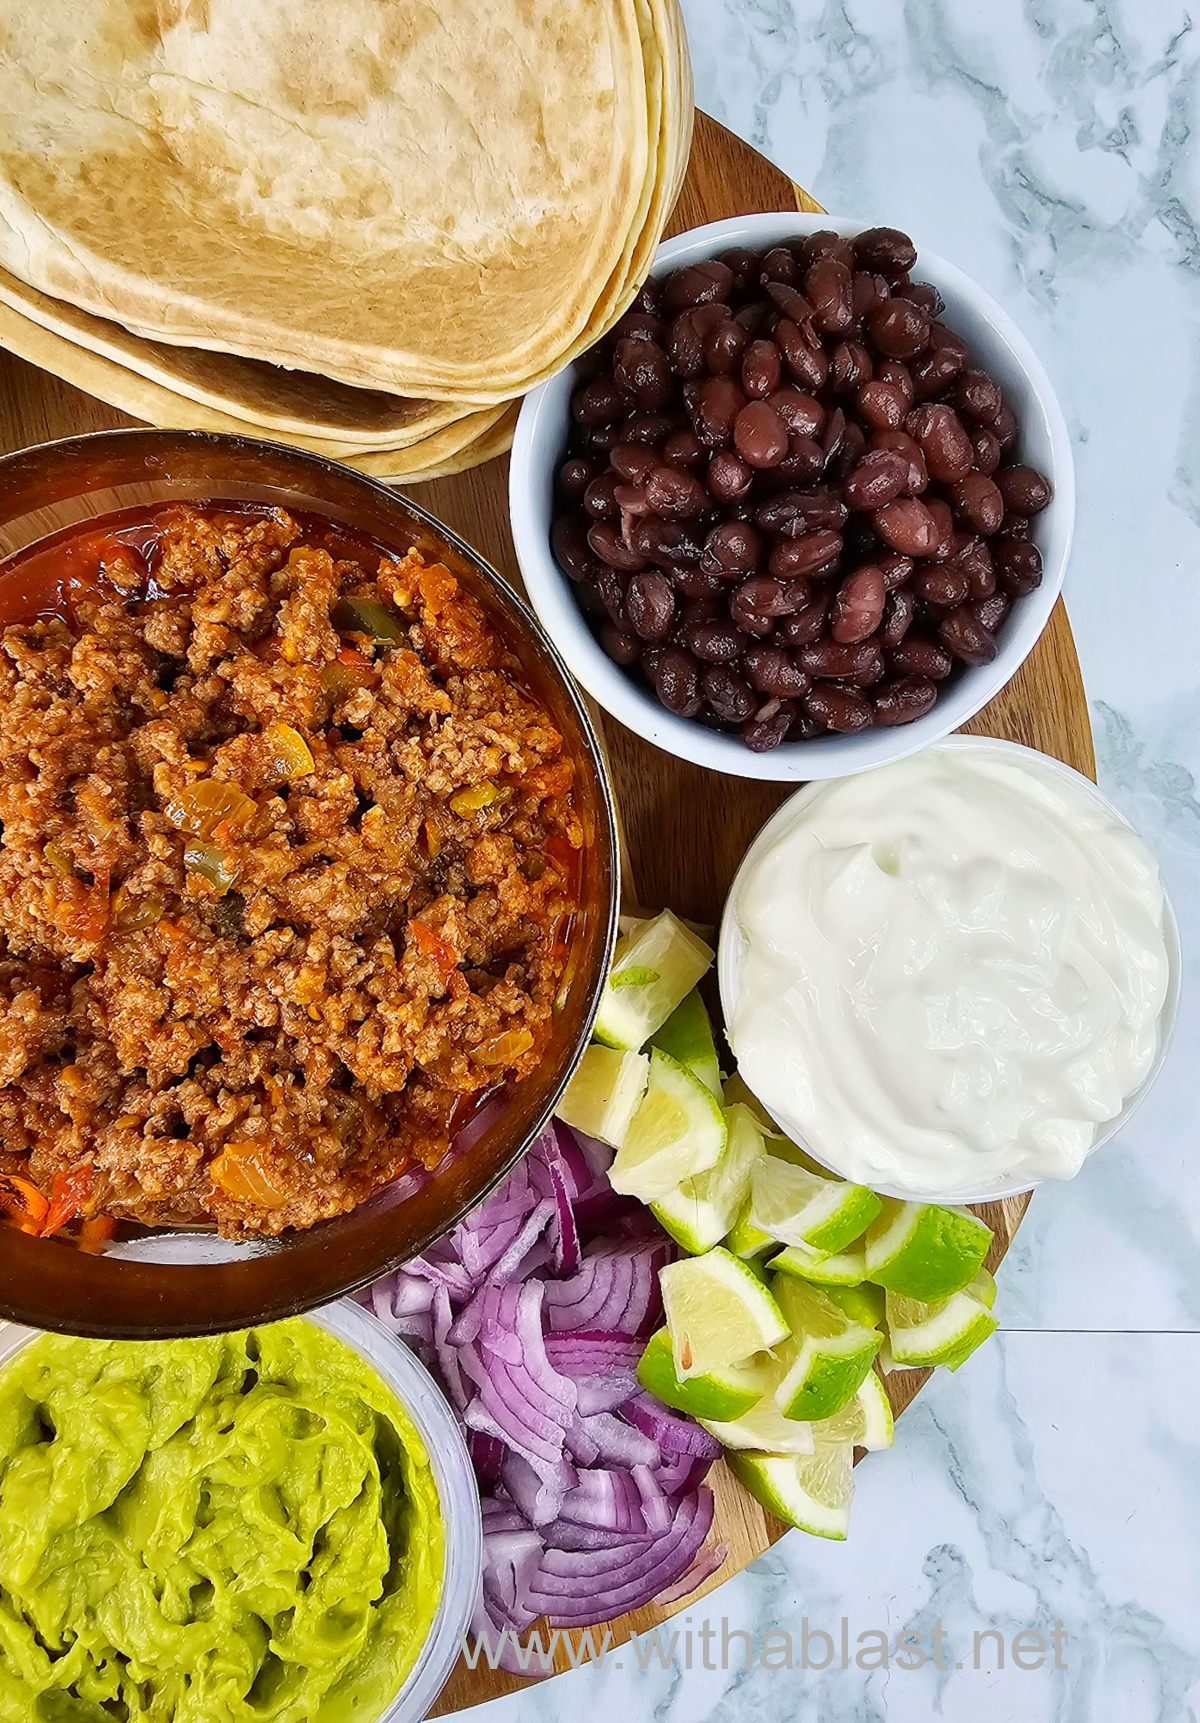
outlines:
[{"label": "juicy lime wedge just below the green rind piece beside meat bowl", "polygon": [[671,1054],[655,1049],[647,1092],[621,1139],[609,1184],[622,1196],[652,1203],[716,1166],[726,1137],[716,1096]]}]

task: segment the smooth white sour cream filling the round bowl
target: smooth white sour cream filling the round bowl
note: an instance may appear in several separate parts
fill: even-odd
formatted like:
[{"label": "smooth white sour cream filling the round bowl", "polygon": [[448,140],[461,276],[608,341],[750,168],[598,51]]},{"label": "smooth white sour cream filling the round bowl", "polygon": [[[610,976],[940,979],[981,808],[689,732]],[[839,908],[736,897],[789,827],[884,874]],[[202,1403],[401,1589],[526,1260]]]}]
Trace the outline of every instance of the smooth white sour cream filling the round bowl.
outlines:
[{"label": "smooth white sour cream filling the round bowl", "polygon": [[722,927],[738,1068],[847,1179],[966,1199],[1079,1170],[1159,1053],[1159,868],[1078,774],[955,737],[800,791]]}]

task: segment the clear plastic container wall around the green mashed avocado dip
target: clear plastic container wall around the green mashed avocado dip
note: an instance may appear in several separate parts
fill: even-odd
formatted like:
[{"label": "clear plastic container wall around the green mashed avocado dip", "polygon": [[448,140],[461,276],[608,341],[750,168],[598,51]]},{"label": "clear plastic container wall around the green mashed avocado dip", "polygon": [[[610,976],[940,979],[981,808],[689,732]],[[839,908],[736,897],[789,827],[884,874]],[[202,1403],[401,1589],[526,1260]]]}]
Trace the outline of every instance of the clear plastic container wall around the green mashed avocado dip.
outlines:
[{"label": "clear plastic container wall around the green mashed avocado dip", "polygon": [[[479,1592],[483,1520],[474,1468],[441,1389],[421,1359],[414,1358],[381,1322],[352,1299],[309,1311],[303,1320],[316,1322],[336,1335],[383,1377],[429,1452],[447,1549],[438,1613],[400,1692],[378,1718],[362,1720],[362,1723],[421,1723],[453,1670]],[[34,1328],[0,1323],[0,1370],[22,1346],[40,1339]],[[321,1713],[312,1723],[321,1723]]]}]

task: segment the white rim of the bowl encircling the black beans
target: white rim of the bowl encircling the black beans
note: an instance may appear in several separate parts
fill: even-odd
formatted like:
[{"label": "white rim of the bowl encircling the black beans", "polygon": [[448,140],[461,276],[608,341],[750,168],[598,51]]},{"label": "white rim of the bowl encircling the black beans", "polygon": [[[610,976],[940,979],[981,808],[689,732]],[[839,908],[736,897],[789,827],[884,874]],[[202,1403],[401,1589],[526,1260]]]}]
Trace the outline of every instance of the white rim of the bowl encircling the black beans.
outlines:
[{"label": "white rim of the bowl encircling the black beans", "polygon": [[[655,253],[650,277],[653,279],[681,262],[710,257],[738,241],[783,243],[788,238],[803,238],[824,229],[855,234],[871,226],[872,222],[855,217],[800,210],[733,215],[691,227],[674,239],[664,241]],[[1047,557],[1041,586],[1026,594],[1014,606],[1012,615],[1005,619],[1009,632],[1007,638],[1002,636],[1000,650],[991,663],[967,667],[953,687],[914,724],[872,725],[855,736],[784,743],[769,753],[755,755],[736,736],[710,731],[693,718],[679,718],[667,712],[602,650],[576,605],[571,582],[550,551],[553,458],[548,465],[541,463],[536,458],[536,448],[545,422],[557,420],[560,414],[562,396],[571,388],[572,369],[566,367],[557,372],[521,403],[509,467],[509,515],[529,603],[543,620],[547,632],[560,644],[572,674],[591,698],[621,724],[645,736],[666,753],[733,777],[767,782],[807,782],[866,772],[891,760],[907,758],[976,717],[1012,681],[1048,625],[1062,593],[1076,517],[1074,455],[1062,405],[1029,339],[986,288],[957,264],[924,246],[919,248],[919,274],[971,302],[972,308],[991,324],[997,339],[1007,346],[1024,374],[1045,417],[1050,439],[1052,460],[1048,465],[1053,498],[1047,517],[1060,543],[1053,548],[1053,560]]]}]

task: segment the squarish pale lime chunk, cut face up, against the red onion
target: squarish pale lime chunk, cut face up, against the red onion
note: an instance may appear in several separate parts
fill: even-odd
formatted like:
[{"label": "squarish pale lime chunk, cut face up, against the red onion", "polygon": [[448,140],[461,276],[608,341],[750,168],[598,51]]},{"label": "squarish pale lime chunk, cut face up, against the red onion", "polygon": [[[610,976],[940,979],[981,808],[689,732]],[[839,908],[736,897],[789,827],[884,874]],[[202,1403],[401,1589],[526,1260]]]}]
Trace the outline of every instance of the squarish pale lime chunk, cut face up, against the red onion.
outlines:
[{"label": "squarish pale lime chunk, cut face up, against the red onion", "polygon": [[721,1246],[667,1263],[659,1284],[681,1380],[747,1363],[788,1337],[788,1323],[771,1291]]}]

